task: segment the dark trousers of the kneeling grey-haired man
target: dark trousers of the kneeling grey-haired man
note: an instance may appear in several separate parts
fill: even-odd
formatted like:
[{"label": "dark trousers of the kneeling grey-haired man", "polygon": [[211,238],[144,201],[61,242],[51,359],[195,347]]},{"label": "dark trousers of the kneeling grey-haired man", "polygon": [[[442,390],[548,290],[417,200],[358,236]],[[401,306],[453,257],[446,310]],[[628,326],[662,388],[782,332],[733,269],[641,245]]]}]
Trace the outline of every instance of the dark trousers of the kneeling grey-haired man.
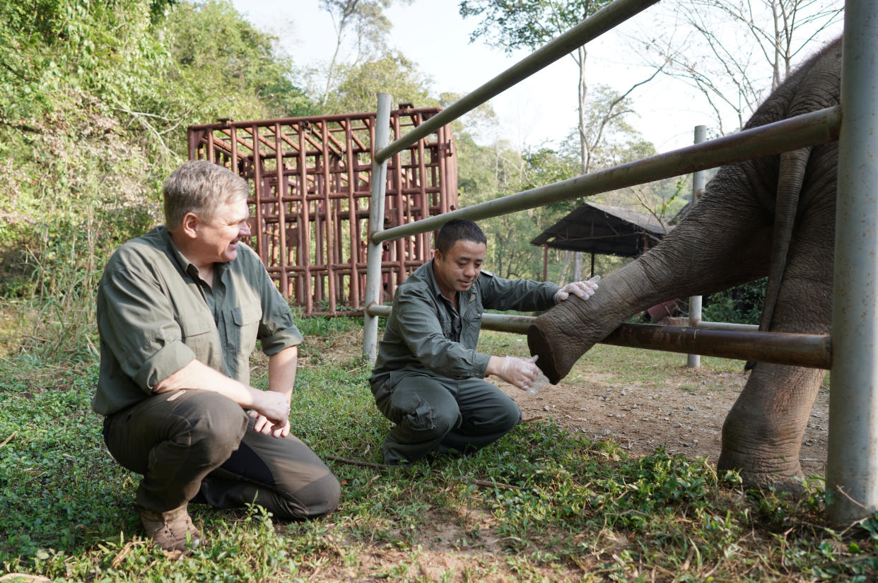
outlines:
[{"label": "dark trousers of the kneeling grey-haired man", "polygon": [[253,421],[218,393],[168,392],[107,416],[104,442],[143,474],[136,503],[149,510],[255,502],[290,520],[335,509],[340,486],[326,464],[292,435],[256,433]]}]

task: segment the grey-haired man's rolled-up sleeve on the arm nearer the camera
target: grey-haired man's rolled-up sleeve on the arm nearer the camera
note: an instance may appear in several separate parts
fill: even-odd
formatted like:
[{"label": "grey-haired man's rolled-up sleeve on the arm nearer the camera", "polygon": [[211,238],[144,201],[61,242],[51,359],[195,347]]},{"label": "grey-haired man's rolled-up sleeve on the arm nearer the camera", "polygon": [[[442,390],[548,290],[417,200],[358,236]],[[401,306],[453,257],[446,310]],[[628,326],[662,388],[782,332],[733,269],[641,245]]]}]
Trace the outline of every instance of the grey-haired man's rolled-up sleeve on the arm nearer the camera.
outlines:
[{"label": "grey-haired man's rolled-up sleeve on the arm nearer the camera", "polygon": [[167,295],[151,274],[128,269],[104,273],[97,326],[122,371],[144,392],[195,359]]}]

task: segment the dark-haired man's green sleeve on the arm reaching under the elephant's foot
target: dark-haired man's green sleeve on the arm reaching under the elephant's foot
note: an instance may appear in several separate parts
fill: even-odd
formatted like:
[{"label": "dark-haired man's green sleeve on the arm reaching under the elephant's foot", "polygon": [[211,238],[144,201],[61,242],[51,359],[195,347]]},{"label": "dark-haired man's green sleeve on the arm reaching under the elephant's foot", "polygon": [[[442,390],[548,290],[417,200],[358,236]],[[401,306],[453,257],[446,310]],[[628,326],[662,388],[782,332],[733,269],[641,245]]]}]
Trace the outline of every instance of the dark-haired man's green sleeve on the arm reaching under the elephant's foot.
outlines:
[{"label": "dark-haired man's green sleeve on the arm reaching under the elephant's foot", "polygon": [[443,335],[435,306],[425,291],[400,295],[393,306],[399,335],[421,364],[449,378],[483,378],[491,356],[467,349]]}]

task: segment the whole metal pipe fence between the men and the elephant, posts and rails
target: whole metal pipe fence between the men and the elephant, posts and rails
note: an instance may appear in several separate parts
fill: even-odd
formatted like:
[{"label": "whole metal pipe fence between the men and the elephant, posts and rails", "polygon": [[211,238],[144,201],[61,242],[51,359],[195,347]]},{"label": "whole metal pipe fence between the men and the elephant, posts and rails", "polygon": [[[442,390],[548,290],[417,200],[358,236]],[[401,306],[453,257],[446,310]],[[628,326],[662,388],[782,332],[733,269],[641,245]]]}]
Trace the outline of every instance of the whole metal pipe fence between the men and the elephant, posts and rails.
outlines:
[{"label": "whole metal pipe fence between the men and the elephant, posts and rails", "polygon": [[[385,161],[407,144],[437,126],[449,123],[525,77],[557,61],[589,40],[607,32],[658,0],[616,0],[606,8],[530,54],[514,67],[452,104],[423,126],[385,147],[390,96],[378,97],[376,140],[380,148],[373,176],[385,171]],[[839,141],[836,256],[831,342],[827,335],[780,335],[674,327],[659,331],[651,326],[624,324],[605,339],[622,346],[666,349],[690,354],[751,358],[777,363],[831,368],[829,457],[826,486],[832,493],[828,510],[832,522],[852,522],[878,510],[878,0],[847,0],[842,70],[842,98],[838,107],[786,119],[767,126],[680,148],[612,169],[576,176],[555,184],[473,205],[439,217],[382,230],[383,180],[372,190],[369,268],[366,276],[366,316],[363,354],[375,358],[380,306],[379,256],[382,241],[427,233],[453,218],[487,219],[553,202],[589,196],[741,162],[760,155],[777,155],[831,140]],[[842,122],[844,112],[844,123]],[[382,128],[385,128],[382,131]],[[522,331],[521,316],[486,317],[483,327]],[[668,327],[666,327],[668,328]],[[724,335],[716,342],[717,335]],[[663,342],[657,342],[664,338]],[[711,340],[713,338],[713,340]],[[730,344],[735,348],[730,349]],[[830,351],[831,345],[831,351]],[[780,354],[775,359],[775,356]],[[807,361],[803,362],[802,358]]]}]

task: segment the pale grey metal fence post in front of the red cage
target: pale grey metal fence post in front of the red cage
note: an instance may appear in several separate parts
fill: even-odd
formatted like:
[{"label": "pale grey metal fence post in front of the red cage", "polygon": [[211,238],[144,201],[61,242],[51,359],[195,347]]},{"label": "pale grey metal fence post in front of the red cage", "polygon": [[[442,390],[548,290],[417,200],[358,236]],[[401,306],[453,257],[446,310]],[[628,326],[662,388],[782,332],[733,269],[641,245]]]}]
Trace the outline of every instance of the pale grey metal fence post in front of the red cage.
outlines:
[{"label": "pale grey metal fence post in front of the red cage", "polygon": [[369,306],[381,305],[381,243],[372,241],[372,234],[384,228],[385,190],[387,188],[387,161],[375,156],[387,146],[390,133],[389,93],[378,93],[378,112],[375,116],[375,141],[372,144],[372,199],[369,205],[369,230],[366,235],[366,297],[363,315],[363,358],[370,364],[378,357],[378,316],[369,315]]}]

